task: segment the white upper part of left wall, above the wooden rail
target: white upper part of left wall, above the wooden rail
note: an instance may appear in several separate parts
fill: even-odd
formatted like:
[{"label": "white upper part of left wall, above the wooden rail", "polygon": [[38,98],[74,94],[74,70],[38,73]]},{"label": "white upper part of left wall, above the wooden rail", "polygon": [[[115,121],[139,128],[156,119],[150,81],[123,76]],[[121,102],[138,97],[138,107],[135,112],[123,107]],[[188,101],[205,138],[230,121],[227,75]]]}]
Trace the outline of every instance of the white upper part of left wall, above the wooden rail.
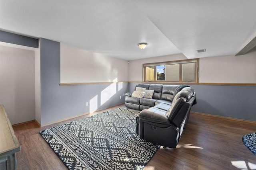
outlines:
[{"label": "white upper part of left wall, above the wooden rail", "polygon": [[128,81],[128,62],[60,45],[60,82]]}]

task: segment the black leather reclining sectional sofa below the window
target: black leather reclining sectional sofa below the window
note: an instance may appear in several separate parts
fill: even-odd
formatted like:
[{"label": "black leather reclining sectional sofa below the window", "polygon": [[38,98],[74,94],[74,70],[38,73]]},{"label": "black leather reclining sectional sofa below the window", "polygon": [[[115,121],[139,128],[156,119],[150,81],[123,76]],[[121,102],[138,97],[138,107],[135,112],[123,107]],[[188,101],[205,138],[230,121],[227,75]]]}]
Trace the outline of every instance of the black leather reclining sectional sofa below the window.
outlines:
[{"label": "black leather reclining sectional sofa below the window", "polygon": [[142,110],[136,117],[137,134],[157,145],[176,148],[190,109],[196,103],[194,89],[186,85],[161,84],[138,84],[136,87],[154,90],[152,99],[134,98],[126,93],[126,107]]}]

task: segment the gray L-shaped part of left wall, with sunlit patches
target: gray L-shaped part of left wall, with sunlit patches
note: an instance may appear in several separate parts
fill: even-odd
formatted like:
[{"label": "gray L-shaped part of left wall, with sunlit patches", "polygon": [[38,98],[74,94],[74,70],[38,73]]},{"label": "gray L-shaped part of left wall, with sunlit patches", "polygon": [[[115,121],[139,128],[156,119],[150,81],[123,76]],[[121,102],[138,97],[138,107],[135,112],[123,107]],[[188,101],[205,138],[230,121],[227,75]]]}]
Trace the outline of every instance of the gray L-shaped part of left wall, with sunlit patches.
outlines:
[{"label": "gray L-shaped part of left wall, with sunlit patches", "polygon": [[[90,100],[97,101],[97,109],[124,103],[128,83],[122,84],[121,87],[118,87],[119,84],[60,86],[60,43],[41,38],[40,48],[41,125],[89,112],[90,104],[92,105]],[[116,86],[114,93],[113,86]],[[102,96],[106,98],[108,93],[109,100],[102,103]],[[87,107],[86,102],[89,103]]]}]

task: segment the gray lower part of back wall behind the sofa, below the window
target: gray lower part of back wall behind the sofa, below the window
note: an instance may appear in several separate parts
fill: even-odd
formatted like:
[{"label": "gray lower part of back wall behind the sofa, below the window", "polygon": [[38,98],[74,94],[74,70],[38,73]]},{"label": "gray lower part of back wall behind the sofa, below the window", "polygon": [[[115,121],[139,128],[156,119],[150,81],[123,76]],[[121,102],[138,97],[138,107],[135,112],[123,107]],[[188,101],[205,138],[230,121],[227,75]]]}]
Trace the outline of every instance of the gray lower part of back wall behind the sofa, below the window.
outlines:
[{"label": "gray lower part of back wall behind the sofa, below the window", "polygon": [[[130,83],[129,92],[137,84]],[[191,111],[256,121],[256,86],[191,86],[197,101]]]}]

